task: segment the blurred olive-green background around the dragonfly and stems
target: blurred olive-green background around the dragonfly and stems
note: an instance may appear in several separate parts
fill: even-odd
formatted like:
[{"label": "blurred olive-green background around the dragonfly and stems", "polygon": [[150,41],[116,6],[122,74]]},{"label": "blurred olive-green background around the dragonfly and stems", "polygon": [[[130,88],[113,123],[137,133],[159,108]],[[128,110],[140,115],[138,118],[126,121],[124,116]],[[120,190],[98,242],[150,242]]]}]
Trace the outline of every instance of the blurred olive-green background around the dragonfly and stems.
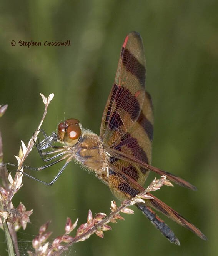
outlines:
[{"label": "blurred olive-green background around the dragonfly and stems", "polygon": [[[93,235],[65,255],[216,255],[218,2],[40,0],[0,5],[0,104],[9,105],[0,119],[5,162],[16,162],[13,155],[20,140],[27,143],[37,128],[44,109],[40,92],[55,94],[43,123],[48,134],[71,117],[99,133],[121,45],[136,30],[145,46],[146,88],[155,111],[153,165],[198,187],[196,192],[164,187],[155,195],[195,224],[209,241],[161,216],[180,239],[181,246],[175,246],[135,209],[134,215],[124,216],[125,221],[112,224],[104,239]],[[70,40],[71,46],[28,48],[19,46],[19,40]],[[36,150],[26,164],[43,164]],[[60,166],[32,175],[51,181]],[[150,180],[154,177],[151,174]],[[93,214],[109,213],[112,199],[108,187],[73,162],[52,187],[23,177],[13,204],[17,207],[22,201],[33,214],[32,224],[18,232],[21,255],[27,255],[38,228],[47,220],[52,220],[55,238],[63,234],[67,216],[79,217],[82,224],[88,209]],[[0,255],[7,255],[3,232],[0,241]]]}]

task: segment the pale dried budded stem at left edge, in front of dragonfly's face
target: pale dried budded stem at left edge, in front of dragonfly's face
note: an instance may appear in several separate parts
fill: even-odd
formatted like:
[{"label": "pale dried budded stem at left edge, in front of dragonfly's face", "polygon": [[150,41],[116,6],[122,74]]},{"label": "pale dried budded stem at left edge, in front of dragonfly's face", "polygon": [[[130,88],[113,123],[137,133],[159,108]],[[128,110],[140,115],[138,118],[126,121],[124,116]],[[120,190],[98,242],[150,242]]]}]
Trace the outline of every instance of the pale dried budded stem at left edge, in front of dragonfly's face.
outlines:
[{"label": "pale dried budded stem at left edge, in front of dragonfly's face", "polygon": [[[32,214],[31,211],[26,211],[26,208],[23,204],[20,203],[20,205],[17,207],[17,209],[14,209],[13,204],[11,202],[13,196],[17,191],[22,187],[22,176],[23,174],[19,172],[22,170],[23,162],[25,161],[26,157],[32,150],[34,146],[34,141],[37,138],[37,135],[39,133],[39,129],[43,123],[43,120],[45,119],[45,115],[47,114],[47,108],[50,104],[50,101],[52,100],[54,94],[50,94],[48,99],[40,94],[43,102],[45,104],[45,109],[43,113],[43,117],[40,121],[40,124],[38,125],[37,130],[33,134],[32,139],[28,142],[27,147],[22,142],[23,149],[20,150],[19,157],[15,156],[18,160],[18,172],[16,172],[14,179],[12,179],[11,175],[7,173],[5,166],[1,166],[1,173],[0,177],[2,177],[2,183],[3,187],[0,187],[0,213],[1,213],[1,221],[2,226],[5,231],[5,238],[7,241],[7,247],[8,247],[8,255],[14,256],[14,249],[16,252],[16,256],[20,256],[18,247],[17,247],[17,235],[16,231],[20,228],[20,226],[25,229],[27,222],[30,222],[29,216]],[[2,110],[3,109],[3,110]],[[4,114],[5,110],[7,109],[7,105],[0,106],[0,117]],[[34,141],[33,141],[34,140]],[[0,164],[3,164],[3,151],[2,151],[2,138],[0,134]],[[15,228],[16,226],[16,228]],[[13,243],[12,243],[13,241]]]}]

